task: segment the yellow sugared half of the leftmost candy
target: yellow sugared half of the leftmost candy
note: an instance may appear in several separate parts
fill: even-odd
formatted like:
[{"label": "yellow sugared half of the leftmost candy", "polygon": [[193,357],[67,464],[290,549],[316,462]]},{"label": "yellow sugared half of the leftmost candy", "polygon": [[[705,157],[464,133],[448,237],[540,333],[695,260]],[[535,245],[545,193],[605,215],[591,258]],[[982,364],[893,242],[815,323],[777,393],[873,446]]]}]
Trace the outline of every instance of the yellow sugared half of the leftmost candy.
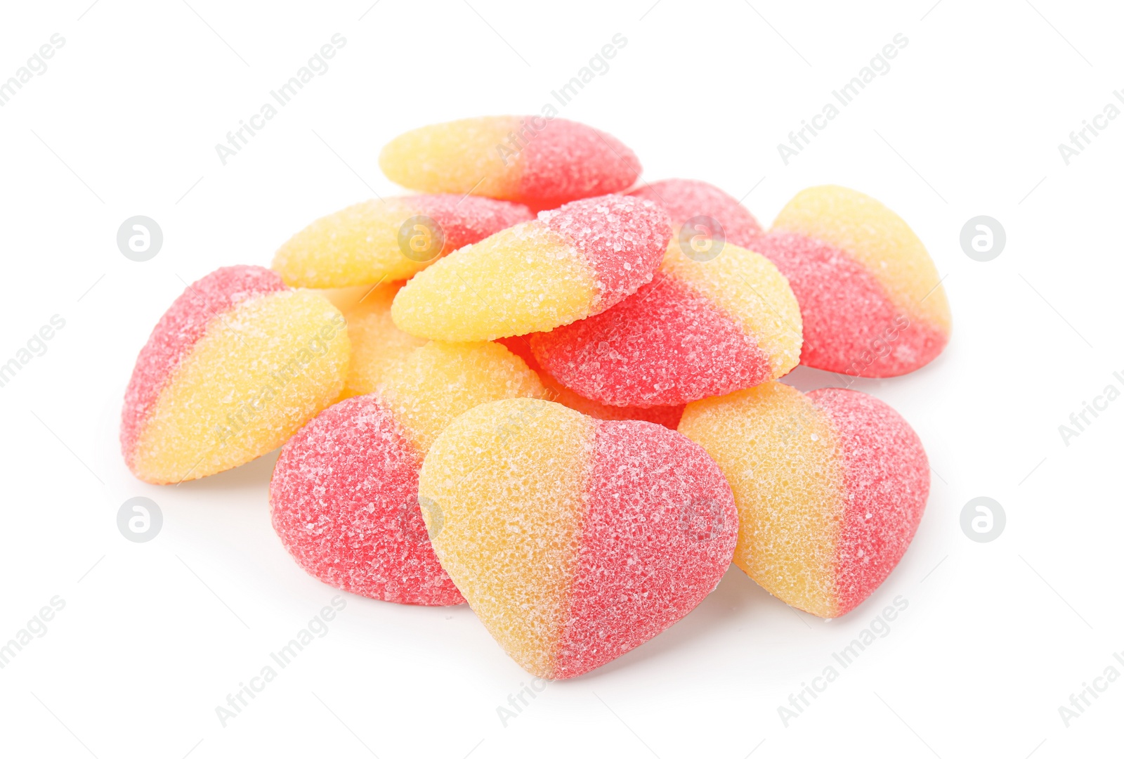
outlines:
[{"label": "yellow sugared half of the leftmost candy", "polygon": [[339,396],[350,352],[343,315],[320,296],[243,300],[169,368],[126,462],[139,479],[169,484],[256,459]]}]

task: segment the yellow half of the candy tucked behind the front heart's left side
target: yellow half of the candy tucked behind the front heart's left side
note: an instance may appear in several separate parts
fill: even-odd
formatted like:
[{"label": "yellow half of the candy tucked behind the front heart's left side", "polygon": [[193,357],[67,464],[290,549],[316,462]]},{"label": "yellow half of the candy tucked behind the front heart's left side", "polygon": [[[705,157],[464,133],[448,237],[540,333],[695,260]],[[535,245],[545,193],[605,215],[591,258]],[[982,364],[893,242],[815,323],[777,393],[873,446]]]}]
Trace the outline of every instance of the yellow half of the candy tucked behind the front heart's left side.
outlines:
[{"label": "yellow half of the candy tucked behind the front heart's left side", "polygon": [[379,396],[422,453],[470,408],[545,392],[523,359],[498,343],[426,343],[390,367],[379,385]]}]

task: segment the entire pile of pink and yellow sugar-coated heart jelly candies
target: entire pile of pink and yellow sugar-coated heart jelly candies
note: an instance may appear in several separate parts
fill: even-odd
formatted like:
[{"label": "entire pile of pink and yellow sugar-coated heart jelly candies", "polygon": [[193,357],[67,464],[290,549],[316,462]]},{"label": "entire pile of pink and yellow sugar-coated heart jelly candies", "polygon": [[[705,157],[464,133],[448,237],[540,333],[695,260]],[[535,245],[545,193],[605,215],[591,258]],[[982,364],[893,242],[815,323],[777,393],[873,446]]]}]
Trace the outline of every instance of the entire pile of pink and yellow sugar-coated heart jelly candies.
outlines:
[{"label": "entire pile of pink and yellow sugar-coated heart jelly candies", "polygon": [[921,441],[869,395],[777,380],[942,351],[945,293],[894,211],[813,187],[765,231],[560,118],[423,127],[380,165],[419,195],[317,219],[160,319],[121,413],[137,478],[280,446],[271,521],[308,573],[466,602],[544,678],[658,635],[731,562],[827,618],[886,579],[928,497]]}]

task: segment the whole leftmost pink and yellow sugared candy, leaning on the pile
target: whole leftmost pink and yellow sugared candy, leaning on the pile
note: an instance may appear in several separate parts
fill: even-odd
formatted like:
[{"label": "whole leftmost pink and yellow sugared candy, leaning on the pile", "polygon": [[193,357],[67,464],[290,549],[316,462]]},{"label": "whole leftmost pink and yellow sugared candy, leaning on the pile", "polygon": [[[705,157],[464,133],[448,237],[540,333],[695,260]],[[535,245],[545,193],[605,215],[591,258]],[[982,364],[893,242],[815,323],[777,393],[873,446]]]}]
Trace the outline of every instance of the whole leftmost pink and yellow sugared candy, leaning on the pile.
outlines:
[{"label": "whole leftmost pink and yellow sugared candy, leaning on the pile", "polygon": [[261,266],[218,269],[188,286],[137,356],[125,463],[164,485],[256,459],[336,399],[350,352],[326,299]]}]

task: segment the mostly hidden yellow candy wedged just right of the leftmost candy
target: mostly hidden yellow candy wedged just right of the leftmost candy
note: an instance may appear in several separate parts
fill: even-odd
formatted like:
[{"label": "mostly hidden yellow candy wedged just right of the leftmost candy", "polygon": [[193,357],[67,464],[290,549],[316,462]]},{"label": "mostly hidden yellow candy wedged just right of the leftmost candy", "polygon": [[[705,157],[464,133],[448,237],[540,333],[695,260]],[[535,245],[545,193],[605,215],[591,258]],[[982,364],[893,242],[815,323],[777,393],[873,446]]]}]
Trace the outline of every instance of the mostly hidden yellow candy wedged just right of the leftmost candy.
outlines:
[{"label": "mostly hidden yellow candy wedged just right of the leftmost candy", "polygon": [[426,341],[407,334],[390,318],[390,304],[400,286],[368,288],[359,305],[344,311],[352,353],[343,397],[361,396],[382,382],[387,370]]}]

